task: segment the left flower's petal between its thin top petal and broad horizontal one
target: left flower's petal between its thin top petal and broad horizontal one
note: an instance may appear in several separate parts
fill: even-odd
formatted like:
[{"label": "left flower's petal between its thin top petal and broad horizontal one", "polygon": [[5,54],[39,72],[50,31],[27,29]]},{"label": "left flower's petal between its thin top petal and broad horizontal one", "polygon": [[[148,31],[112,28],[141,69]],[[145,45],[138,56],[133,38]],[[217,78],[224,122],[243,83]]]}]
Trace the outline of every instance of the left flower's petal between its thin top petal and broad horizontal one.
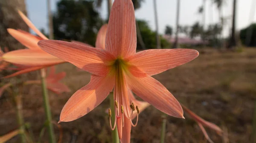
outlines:
[{"label": "left flower's petal between its thin top petal and broad horizontal one", "polygon": [[27,32],[25,33],[25,31],[18,31],[15,29],[7,29],[7,31],[12,35],[12,37],[14,37],[27,48],[32,50],[41,50],[37,45],[41,38],[35,37],[35,35],[29,34]]}]

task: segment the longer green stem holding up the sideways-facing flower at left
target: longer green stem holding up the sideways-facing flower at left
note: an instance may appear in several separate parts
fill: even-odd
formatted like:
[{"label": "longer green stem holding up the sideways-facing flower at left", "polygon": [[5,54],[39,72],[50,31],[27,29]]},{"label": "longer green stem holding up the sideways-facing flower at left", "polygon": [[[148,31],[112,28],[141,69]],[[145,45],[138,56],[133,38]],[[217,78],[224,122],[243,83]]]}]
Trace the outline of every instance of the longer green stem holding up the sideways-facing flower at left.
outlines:
[{"label": "longer green stem holding up the sideways-facing flower at left", "polygon": [[51,108],[49,103],[49,96],[48,96],[45,77],[46,77],[46,71],[45,69],[41,69],[41,80],[42,80],[42,89],[43,89],[43,97],[44,97],[44,111],[46,114],[46,125],[49,133],[49,142],[56,143],[53,124],[51,123],[52,113],[51,113]]}]

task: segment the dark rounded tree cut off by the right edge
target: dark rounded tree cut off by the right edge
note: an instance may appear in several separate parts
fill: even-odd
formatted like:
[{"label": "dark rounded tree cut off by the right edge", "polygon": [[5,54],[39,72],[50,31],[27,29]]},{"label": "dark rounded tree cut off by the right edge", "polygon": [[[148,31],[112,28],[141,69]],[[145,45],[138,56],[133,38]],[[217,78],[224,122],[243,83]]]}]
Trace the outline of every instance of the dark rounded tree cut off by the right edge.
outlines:
[{"label": "dark rounded tree cut off by the right edge", "polygon": [[[247,40],[248,30],[251,31],[249,43]],[[256,23],[253,23],[250,26],[244,29],[241,29],[239,37],[240,37],[241,43],[244,44],[245,46],[256,46]]]}]

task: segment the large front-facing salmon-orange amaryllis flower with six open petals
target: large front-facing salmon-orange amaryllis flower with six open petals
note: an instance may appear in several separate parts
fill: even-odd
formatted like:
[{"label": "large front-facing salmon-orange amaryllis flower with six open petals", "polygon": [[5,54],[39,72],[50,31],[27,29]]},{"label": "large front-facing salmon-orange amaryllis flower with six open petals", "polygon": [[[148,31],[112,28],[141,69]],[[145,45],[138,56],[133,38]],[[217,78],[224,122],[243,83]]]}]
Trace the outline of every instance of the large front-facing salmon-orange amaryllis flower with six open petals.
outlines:
[{"label": "large front-facing salmon-orange amaryllis flower with six open petals", "polygon": [[151,76],[195,59],[198,51],[150,49],[136,53],[135,15],[131,0],[114,1],[105,49],[58,40],[41,40],[38,45],[44,51],[92,73],[90,82],[75,92],[63,107],[60,122],[84,116],[102,103],[112,89],[116,117],[111,128],[117,126],[119,139],[122,139],[123,132],[130,134],[127,129],[131,127],[130,123],[133,124],[131,117],[136,105],[130,102],[130,91],[160,111],[183,118],[180,103]]}]

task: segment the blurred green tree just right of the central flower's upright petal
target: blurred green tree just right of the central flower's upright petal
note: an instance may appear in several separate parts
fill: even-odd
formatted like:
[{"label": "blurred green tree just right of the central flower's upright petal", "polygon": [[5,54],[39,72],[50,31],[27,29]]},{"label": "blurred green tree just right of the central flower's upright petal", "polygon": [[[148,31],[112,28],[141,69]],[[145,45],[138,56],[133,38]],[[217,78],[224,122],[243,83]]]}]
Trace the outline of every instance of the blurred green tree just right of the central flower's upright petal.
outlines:
[{"label": "blurred green tree just right of the central flower's upright petal", "polygon": [[[138,26],[140,27],[141,35],[145,46],[148,49],[155,49],[157,47],[156,32],[152,31],[145,20],[137,20]],[[161,47],[169,48],[170,43],[160,36]],[[137,43],[137,49],[142,49],[139,43]]]}]

